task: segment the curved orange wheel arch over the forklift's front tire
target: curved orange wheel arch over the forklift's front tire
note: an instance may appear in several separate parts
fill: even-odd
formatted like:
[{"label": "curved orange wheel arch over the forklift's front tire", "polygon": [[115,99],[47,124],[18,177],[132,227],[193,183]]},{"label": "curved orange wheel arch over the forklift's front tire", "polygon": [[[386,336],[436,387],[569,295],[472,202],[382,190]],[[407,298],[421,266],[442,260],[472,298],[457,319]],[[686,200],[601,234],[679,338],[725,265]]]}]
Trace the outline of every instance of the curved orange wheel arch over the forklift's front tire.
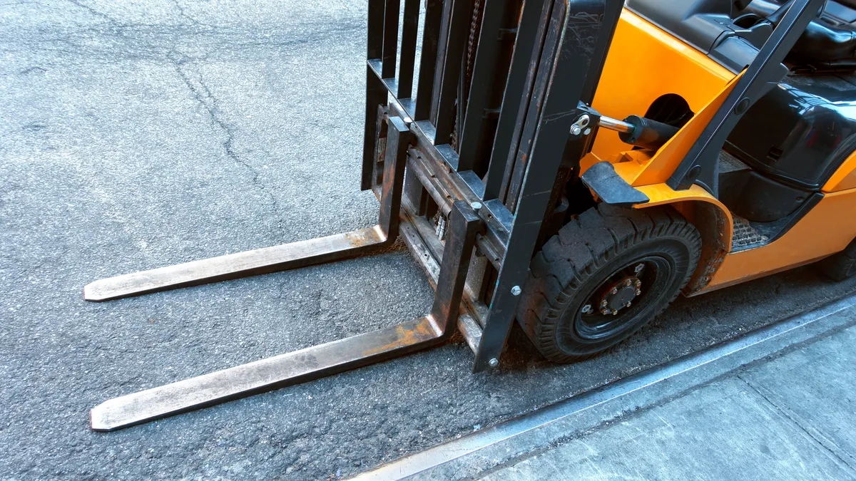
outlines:
[{"label": "curved orange wheel arch over the forklift's front tire", "polygon": [[634,205],[636,209],[670,205],[698,229],[702,239],[701,258],[683,293],[690,296],[707,287],[731,252],[734,218],[728,207],[698,186],[682,191],[675,191],[664,183],[636,188],[651,199],[646,204]]}]

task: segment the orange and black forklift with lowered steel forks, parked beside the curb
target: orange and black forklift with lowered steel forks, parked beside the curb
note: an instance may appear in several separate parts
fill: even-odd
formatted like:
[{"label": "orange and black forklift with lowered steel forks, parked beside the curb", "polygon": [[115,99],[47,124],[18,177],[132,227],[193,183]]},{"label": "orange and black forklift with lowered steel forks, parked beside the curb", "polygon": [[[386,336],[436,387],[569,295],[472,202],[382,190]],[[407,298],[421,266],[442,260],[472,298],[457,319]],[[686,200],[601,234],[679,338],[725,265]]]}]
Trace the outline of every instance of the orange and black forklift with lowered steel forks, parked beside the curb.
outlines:
[{"label": "orange and black forklift with lowered steel forks, parked beside the curb", "polygon": [[[694,296],[856,274],[856,0],[368,0],[376,225],[110,277],[90,301],[382,251],[425,316],[94,407],[112,431],[437,345],[603,353]],[[403,4],[402,4],[403,3]],[[417,65],[418,63],[418,65]],[[620,120],[623,119],[623,120]]]}]

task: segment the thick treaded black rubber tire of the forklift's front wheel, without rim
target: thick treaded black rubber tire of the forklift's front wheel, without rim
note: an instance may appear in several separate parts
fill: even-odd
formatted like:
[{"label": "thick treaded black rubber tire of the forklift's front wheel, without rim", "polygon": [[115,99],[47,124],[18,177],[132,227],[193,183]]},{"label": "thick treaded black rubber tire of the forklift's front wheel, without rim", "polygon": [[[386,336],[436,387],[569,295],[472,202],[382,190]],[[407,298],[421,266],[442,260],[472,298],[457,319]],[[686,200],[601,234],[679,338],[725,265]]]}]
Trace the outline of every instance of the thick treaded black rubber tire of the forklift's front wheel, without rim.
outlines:
[{"label": "thick treaded black rubber tire of the forklift's front wheel, without rim", "polygon": [[[547,359],[568,363],[590,358],[626,340],[663,312],[689,282],[700,255],[698,230],[671,207],[638,210],[597,205],[562,227],[532,258],[518,323]],[[614,333],[597,339],[580,335],[585,324],[576,319],[591,316],[582,313],[586,300],[603,282],[640,258],[659,264],[639,303],[615,321],[607,321],[617,326]]]}]

